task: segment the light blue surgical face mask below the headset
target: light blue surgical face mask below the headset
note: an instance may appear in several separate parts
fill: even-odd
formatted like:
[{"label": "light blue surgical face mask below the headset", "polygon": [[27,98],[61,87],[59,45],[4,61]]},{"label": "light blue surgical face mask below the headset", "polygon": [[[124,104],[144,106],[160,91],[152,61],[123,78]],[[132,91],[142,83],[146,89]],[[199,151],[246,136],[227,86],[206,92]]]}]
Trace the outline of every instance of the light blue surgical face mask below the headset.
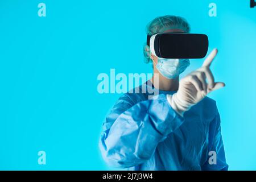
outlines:
[{"label": "light blue surgical face mask below the headset", "polygon": [[168,79],[179,76],[190,65],[188,59],[164,59],[158,58],[156,69]]}]

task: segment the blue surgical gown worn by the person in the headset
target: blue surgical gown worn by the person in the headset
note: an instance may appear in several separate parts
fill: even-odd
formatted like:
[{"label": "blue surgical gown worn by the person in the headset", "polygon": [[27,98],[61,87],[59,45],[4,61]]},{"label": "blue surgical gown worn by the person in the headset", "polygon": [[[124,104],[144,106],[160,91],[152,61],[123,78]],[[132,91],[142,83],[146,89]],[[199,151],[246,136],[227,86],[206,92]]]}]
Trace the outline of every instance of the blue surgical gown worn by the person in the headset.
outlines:
[{"label": "blue surgical gown worn by the person in the headset", "polygon": [[205,97],[181,117],[166,99],[175,92],[158,92],[154,100],[126,93],[115,103],[101,132],[105,162],[128,170],[227,170],[216,102]]}]

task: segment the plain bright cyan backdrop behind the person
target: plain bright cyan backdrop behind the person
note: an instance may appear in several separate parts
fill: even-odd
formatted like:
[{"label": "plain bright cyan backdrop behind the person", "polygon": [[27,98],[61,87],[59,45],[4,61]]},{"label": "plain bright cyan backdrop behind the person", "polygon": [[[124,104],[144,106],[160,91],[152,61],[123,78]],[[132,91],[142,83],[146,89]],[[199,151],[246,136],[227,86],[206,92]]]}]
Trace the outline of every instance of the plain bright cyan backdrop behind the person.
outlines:
[{"label": "plain bright cyan backdrop behind the person", "polygon": [[[38,4],[46,3],[46,17]],[[217,17],[209,17],[209,3]],[[183,16],[209,37],[226,87],[210,94],[221,114],[231,170],[256,169],[256,7],[250,1],[1,1],[0,169],[104,170],[98,139],[120,94],[99,94],[100,73],[151,73],[146,24]],[[115,54],[112,54],[112,48]],[[199,68],[191,60],[183,74]],[[38,151],[46,151],[46,165]]]}]

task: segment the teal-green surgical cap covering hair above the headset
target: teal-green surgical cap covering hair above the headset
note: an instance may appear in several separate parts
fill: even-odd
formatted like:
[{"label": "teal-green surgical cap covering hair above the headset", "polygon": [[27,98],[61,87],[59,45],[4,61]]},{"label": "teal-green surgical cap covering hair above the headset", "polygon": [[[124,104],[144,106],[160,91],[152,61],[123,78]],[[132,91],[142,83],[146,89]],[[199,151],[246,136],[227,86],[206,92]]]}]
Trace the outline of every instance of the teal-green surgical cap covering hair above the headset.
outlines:
[{"label": "teal-green surgical cap covering hair above the headset", "polygon": [[[146,33],[151,36],[172,28],[183,30],[186,33],[190,32],[190,26],[187,20],[180,16],[166,15],[159,16],[149,22],[146,26]],[[145,43],[143,46],[144,61],[149,63],[151,61],[150,51],[146,51],[146,46],[147,44]]]}]

